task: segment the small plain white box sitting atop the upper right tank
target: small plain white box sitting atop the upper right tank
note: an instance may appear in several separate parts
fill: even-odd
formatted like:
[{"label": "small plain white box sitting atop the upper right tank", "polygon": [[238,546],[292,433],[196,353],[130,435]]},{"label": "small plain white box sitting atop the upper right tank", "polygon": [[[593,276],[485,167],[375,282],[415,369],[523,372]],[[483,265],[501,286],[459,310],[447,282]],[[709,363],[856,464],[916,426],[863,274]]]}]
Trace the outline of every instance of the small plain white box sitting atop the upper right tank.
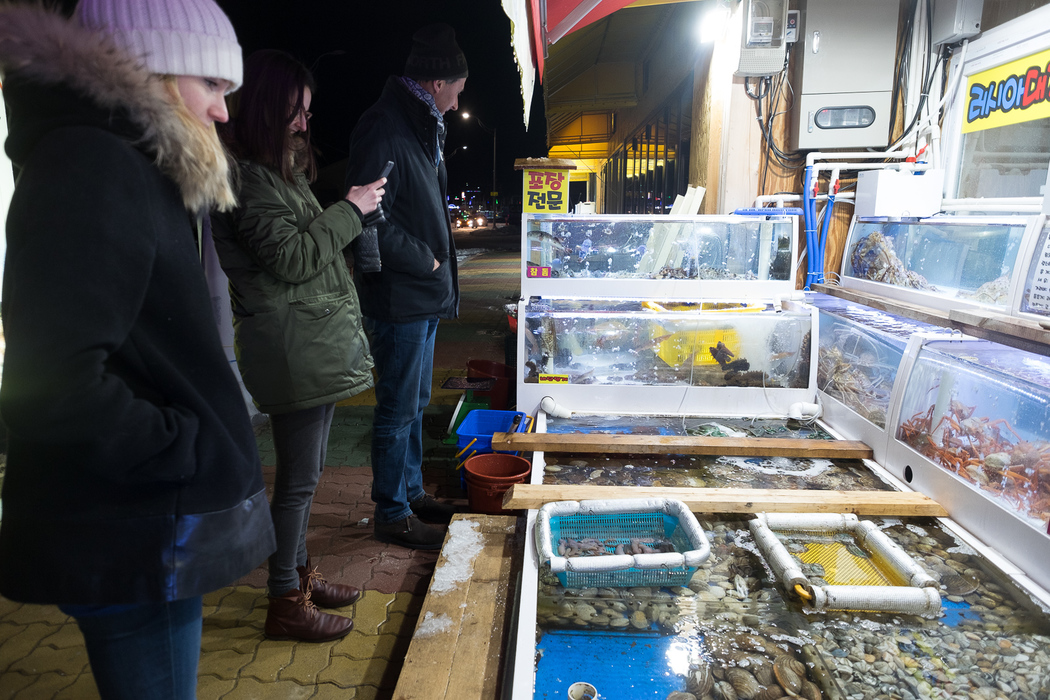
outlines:
[{"label": "small plain white box sitting atop the upper right tank", "polygon": [[944,170],[861,170],[854,213],[858,218],[925,217],[941,211]]}]

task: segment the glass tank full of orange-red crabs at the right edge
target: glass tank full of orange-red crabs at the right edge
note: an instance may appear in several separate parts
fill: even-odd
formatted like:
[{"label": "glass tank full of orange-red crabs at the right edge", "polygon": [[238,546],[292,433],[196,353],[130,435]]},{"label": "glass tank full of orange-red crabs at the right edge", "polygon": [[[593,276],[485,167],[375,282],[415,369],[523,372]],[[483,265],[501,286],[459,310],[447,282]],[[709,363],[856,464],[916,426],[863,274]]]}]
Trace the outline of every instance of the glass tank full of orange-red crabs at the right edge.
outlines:
[{"label": "glass tank full of orange-red crabs at the right edge", "polygon": [[983,340],[930,341],[896,437],[1041,532],[1050,519],[1050,359]]}]

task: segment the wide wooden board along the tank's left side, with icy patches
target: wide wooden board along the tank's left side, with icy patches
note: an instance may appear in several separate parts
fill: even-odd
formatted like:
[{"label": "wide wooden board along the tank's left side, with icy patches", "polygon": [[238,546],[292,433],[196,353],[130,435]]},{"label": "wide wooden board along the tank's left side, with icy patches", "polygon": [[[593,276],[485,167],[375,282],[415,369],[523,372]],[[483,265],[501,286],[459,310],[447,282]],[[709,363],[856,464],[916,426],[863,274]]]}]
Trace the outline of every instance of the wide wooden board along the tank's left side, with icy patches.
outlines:
[{"label": "wide wooden board along the tank's left side, with icy patches", "polygon": [[[512,515],[457,514],[453,522],[478,524],[482,549],[467,580],[449,591],[427,591],[417,634],[394,688],[397,700],[495,700],[500,697],[502,650],[512,590],[518,518]],[[445,537],[445,546],[449,538]],[[448,563],[444,548],[435,571]],[[419,625],[435,625],[419,634]]]}]

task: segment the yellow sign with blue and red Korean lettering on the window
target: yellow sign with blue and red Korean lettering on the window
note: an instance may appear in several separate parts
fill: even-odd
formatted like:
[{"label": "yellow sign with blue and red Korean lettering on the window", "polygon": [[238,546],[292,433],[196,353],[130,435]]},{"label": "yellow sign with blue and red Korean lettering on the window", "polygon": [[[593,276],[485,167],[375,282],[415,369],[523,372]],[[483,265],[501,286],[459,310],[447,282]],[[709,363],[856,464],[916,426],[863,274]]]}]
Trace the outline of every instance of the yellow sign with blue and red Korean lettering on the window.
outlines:
[{"label": "yellow sign with blue and red Korean lettering on the window", "polygon": [[1050,48],[970,76],[963,133],[1050,118],[1048,76]]}]

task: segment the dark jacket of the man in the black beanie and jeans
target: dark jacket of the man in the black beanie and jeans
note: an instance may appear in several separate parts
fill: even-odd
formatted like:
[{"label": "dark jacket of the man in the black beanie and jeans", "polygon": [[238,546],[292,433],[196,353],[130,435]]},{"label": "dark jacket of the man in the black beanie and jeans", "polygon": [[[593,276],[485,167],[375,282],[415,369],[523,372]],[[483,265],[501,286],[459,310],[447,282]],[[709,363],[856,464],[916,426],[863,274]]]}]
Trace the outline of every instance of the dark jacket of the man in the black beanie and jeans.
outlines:
[{"label": "dark jacket of the man in the black beanie and jeans", "polygon": [[445,163],[435,163],[435,149],[443,147],[438,118],[395,77],[354,128],[346,190],[374,182],[394,162],[382,201],[386,221],[378,226],[382,270],[354,275],[370,318],[407,322],[459,314]]}]

